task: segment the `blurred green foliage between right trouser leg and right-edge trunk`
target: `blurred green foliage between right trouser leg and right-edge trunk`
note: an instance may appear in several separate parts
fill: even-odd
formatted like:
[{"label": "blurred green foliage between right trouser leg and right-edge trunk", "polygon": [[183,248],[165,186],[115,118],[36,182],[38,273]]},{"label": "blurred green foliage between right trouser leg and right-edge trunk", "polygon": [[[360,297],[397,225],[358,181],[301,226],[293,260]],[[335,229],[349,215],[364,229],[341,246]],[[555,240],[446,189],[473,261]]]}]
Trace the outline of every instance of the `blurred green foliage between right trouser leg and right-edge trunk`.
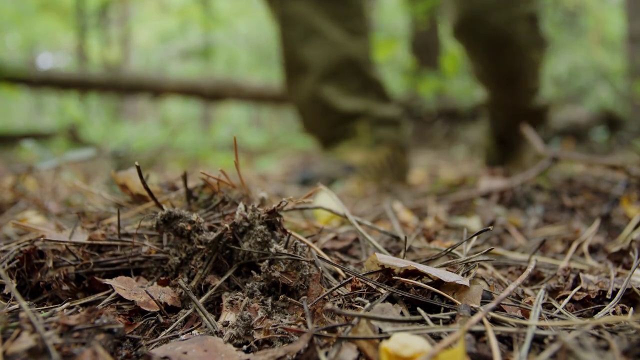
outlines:
[{"label": "blurred green foliage between right trouser leg and right-edge trunk", "polygon": [[549,42],[543,95],[591,110],[624,106],[624,2],[545,0],[541,14]]}]

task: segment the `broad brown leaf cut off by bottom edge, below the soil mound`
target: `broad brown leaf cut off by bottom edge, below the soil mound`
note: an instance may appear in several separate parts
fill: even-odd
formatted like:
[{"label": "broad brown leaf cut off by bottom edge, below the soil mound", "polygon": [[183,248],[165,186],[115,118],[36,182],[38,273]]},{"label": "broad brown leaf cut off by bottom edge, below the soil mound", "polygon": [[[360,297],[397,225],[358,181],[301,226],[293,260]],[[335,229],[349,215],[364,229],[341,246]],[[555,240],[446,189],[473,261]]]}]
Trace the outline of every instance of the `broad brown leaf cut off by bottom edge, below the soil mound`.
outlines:
[{"label": "broad brown leaf cut off by bottom edge, below the soil mound", "polygon": [[151,350],[152,359],[170,360],[244,360],[248,356],[233,345],[215,336],[195,336],[189,340],[173,341]]}]

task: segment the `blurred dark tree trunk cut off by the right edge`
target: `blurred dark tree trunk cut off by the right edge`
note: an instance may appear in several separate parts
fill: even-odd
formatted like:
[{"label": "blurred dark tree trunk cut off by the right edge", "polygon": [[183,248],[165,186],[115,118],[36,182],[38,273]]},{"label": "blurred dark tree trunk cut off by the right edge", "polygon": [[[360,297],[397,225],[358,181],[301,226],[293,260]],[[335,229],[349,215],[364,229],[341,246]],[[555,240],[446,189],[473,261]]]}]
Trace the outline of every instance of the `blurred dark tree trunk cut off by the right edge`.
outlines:
[{"label": "blurred dark tree trunk cut off by the right edge", "polygon": [[628,129],[637,136],[640,128],[640,1],[627,0],[627,61],[630,85]]}]

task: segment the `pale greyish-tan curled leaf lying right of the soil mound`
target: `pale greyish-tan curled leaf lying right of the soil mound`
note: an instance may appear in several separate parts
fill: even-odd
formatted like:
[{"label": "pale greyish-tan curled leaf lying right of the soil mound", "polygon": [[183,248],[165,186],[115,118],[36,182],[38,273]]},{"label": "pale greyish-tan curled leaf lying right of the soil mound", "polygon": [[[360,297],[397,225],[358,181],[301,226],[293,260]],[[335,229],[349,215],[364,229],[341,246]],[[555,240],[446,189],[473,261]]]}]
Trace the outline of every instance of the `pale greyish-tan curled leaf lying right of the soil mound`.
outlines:
[{"label": "pale greyish-tan curled leaf lying right of the soil mound", "polygon": [[374,252],[369,257],[369,259],[367,259],[367,261],[365,262],[365,268],[367,269],[367,271],[378,270],[380,268],[391,268],[397,273],[407,270],[417,270],[419,272],[422,272],[422,274],[436,277],[444,282],[455,282],[456,284],[469,286],[469,280],[466,277],[460,276],[458,274],[454,274],[447,270],[434,268],[433,266],[423,265],[415,263],[413,261],[396,258],[394,256],[380,254],[378,252]]}]

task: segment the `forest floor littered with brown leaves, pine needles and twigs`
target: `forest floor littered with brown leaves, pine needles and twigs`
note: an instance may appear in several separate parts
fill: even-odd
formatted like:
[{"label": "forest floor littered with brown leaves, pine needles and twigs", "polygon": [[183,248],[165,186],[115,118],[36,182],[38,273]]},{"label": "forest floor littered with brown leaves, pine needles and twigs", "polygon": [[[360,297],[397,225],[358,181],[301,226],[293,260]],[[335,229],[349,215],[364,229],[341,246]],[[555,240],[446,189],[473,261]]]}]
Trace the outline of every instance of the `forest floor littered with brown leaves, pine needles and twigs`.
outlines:
[{"label": "forest floor littered with brown leaves, pine needles and twigs", "polygon": [[423,151],[395,197],[5,171],[0,358],[637,359],[640,171],[537,144],[513,177]]}]

